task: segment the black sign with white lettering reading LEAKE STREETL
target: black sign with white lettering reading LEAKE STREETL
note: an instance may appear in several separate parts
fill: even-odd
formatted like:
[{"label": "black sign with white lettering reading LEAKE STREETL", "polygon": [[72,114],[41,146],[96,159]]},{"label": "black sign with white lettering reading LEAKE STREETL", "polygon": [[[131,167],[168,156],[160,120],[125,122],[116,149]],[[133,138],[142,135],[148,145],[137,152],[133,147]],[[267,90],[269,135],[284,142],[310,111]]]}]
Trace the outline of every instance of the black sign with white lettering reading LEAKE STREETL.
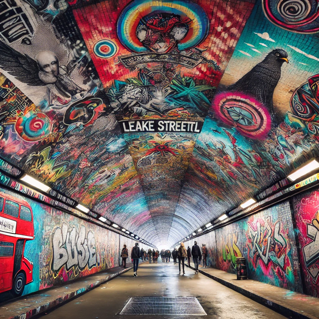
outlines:
[{"label": "black sign with white lettering reading LEAKE STREETL", "polygon": [[122,133],[132,132],[181,132],[200,133],[203,121],[181,120],[120,120]]}]

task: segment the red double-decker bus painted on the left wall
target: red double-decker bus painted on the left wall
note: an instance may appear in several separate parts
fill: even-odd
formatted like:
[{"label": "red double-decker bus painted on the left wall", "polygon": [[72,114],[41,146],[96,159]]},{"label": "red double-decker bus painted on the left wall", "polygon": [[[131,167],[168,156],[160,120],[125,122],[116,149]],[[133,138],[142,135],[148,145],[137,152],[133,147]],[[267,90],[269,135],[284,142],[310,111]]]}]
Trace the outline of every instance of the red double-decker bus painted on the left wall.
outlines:
[{"label": "red double-decker bus painted on the left wall", "polygon": [[26,241],[34,239],[31,206],[0,192],[0,293],[20,296],[32,282],[33,263],[24,256]]}]

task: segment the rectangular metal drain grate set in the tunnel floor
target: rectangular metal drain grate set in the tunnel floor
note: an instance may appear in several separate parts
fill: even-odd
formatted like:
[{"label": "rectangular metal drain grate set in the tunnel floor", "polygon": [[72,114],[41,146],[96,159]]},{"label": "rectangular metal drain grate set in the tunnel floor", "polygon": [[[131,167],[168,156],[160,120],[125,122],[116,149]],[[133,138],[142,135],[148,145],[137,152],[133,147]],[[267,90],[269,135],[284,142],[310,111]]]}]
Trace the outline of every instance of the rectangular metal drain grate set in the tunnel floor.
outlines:
[{"label": "rectangular metal drain grate set in the tunnel floor", "polygon": [[207,315],[195,297],[132,297],[120,315]]}]

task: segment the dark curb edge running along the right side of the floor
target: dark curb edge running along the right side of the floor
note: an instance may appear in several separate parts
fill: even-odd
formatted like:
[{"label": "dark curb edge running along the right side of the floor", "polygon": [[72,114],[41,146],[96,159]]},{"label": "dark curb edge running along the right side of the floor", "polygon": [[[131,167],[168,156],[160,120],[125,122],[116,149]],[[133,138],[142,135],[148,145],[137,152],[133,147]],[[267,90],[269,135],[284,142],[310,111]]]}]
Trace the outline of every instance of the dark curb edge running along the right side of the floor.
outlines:
[{"label": "dark curb edge running along the right side of the floor", "polygon": [[[185,263],[185,265],[186,265],[186,263]],[[189,267],[188,265],[186,265],[186,266]],[[195,268],[192,266],[190,266],[189,268],[195,270]],[[295,319],[313,319],[314,318],[314,317],[308,317],[306,315],[302,315],[295,310],[292,310],[290,308],[287,308],[287,307],[279,304],[278,302],[266,299],[253,291],[238,287],[227,280],[224,280],[222,278],[211,275],[205,271],[202,271],[200,268],[198,268],[198,272],[200,272],[201,274],[219,282],[220,284],[226,286],[227,288],[233,289],[237,293],[241,293],[245,297],[248,297],[248,298],[258,302],[258,303],[262,304],[263,306],[266,306],[266,307],[278,312],[279,314],[284,315],[285,317],[291,317],[291,318],[295,318]]]}]

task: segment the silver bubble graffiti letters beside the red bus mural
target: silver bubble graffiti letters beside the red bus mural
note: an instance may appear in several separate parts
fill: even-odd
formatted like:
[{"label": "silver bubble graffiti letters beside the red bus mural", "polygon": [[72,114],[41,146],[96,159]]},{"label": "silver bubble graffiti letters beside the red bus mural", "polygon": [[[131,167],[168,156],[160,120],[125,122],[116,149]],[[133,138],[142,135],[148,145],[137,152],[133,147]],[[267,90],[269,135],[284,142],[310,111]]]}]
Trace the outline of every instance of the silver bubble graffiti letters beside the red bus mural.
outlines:
[{"label": "silver bubble graffiti letters beside the red bus mural", "polygon": [[57,226],[52,235],[52,271],[57,274],[63,266],[66,271],[77,267],[83,271],[86,266],[91,269],[97,263],[95,238],[92,231],[86,234],[84,225],[79,231],[63,223]]}]

